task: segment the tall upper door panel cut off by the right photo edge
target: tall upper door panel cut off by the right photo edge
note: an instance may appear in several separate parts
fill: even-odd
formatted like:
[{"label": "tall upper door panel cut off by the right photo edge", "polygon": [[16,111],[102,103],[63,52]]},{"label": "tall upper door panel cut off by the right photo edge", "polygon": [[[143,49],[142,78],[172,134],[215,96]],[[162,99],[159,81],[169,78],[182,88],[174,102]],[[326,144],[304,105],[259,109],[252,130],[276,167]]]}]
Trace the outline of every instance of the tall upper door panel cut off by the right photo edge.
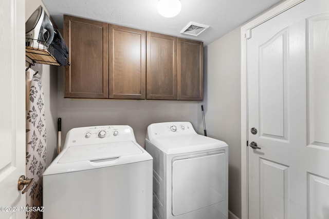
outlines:
[{"label": "tall upper door panel cut off by the right photo edge", "polygon": [[329,13],[307,19],[308,36],[308,145],[329,147]]}]

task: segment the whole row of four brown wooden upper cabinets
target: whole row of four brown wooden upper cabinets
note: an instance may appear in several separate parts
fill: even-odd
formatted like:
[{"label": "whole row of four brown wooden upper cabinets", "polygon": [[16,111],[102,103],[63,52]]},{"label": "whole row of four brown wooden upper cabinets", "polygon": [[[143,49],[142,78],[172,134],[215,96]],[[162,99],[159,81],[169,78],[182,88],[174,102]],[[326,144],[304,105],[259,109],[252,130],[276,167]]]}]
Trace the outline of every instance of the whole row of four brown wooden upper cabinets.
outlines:
[{"label": "whole row of four brown wooden upper cabinets", "polygon": [[64,97],[202,100],[203,43],[64,15]]}]

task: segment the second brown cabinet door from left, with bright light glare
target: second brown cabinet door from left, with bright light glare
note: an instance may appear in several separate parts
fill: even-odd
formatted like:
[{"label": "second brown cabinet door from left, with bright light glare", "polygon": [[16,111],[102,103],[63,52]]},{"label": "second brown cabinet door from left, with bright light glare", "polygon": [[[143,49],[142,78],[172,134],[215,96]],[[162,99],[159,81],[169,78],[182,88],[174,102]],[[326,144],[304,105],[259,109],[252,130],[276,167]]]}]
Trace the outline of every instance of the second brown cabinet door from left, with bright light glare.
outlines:
[{"label": "second brown cabinet door from left, with bright light glare", "polygon": [[109,25],[109,98],[145,99],[146,31]]}]

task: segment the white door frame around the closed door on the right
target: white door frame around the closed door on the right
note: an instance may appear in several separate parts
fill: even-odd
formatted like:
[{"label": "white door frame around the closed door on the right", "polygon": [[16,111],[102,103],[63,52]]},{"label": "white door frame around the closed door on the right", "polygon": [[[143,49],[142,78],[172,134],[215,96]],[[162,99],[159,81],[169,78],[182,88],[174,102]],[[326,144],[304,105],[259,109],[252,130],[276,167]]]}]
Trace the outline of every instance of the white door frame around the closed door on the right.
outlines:
[{"label": "white door frame around the closed door on the right", "polygon": [[241,219],[249,218],[248,205],[248,85],[247,40],[251,30],[305,0],[287,0],[241,27]]}]

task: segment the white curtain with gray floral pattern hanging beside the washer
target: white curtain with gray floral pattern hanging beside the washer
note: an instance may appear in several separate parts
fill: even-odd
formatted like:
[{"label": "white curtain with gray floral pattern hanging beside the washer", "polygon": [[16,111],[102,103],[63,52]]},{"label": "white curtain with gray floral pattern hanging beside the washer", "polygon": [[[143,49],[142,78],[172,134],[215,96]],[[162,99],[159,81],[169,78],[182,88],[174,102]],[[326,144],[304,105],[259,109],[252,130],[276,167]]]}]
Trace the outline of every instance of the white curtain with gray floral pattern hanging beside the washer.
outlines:
[{"label": "white curtain with gray floral pattern hanging beside the washer", "polygon": [[[26,192],[26,207],[42,206],[42,174],[46,169],[46,120],[41,81],[26,71],[26,177],[34,184]],[[42,212],[26,212],[26,218],[42,218]]]}]

